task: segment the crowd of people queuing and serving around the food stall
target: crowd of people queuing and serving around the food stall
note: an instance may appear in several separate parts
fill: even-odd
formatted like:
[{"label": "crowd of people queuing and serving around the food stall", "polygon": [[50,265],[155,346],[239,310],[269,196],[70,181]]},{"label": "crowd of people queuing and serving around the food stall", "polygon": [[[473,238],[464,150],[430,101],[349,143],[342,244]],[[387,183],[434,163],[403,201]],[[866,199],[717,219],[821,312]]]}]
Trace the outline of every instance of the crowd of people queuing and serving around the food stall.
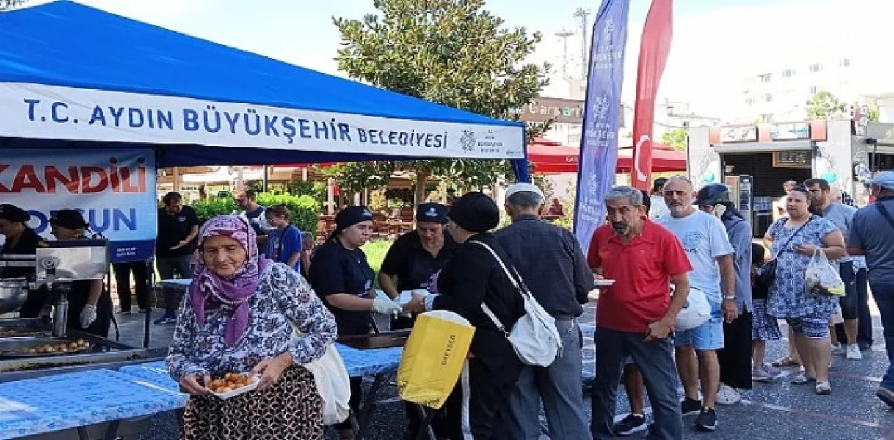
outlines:
[{"label": "crowd of people queuing and serving around the food stall", "polygon": [[[783,367],[799,367],[792,383],[831,394],[832,354],[856,361],[873,344],[867,282],[894,360],[894,171],[873,178],[875,203],[859,210],[840,203],[840,193],[821,178],[787,183],[784,215],[763,243],[753,242],[727,187],[708,185],[696,193],[684,177],[654,184],[651,192],[608,191],[606,223],[586,255],[569,230],[541,220],[549,215],[546,197],[532,184],[507,189],[503,209],[512,223],[499,230],[500,208],[488,195],[468,193],[449,206],[421,203],[416,228],[394,242],[378,274],[362,250],[374,228],[364,206],[339,212],[334,231],[315,246],[313,235],[291,225],[288,209],[261,206],[250,190],[235,196],[243,212],[202,225],[181,195],[164,195],[158,270],[162,278],[192,279],[181,302],[165,298],[165,314],[156,320],[176,323],[168,368],[191,394],[181,436],[241,438],[250,428],[276,438],[323,438],[321,397],[302,366],[323,356],[339,336],[369,333],[371,313],[391,318],[398,329],[412,328],[418,313],[448,310],[477,328],[468,369],[433,420],[439,438],[537,439],[542,408],[553,439],[646,430],[648,438],[679,439],[685,416],[696,416],[697,429],[714,430],[716,405],[738,403],[741,390],[779,378]],[[0,205],[2,252],[27,253],[25,247],[39,245],[28,220],[21,208]],[[89,230],[70,210],[58,212],[51,224],[59,239],[87,237]],[[818,250],[838,267],[846,286],[840,299],[806,287],[806,267]],[[756,274],[769,262],[775,272],[766,284]],[[505,328],[525,314],[502,265],[516,269],[514,281],[525,283],[555,319],[563,350],[548,367],[519,361],[481,307],[486,304]],[[135,275],[139,309],[148,311],[148,297],[139,290],[145,265],[138,266],[115,271],[120,288]],[[597,299],[588,420],[578,319],[595,278],[613,284],[600,287]],[[105,336],[112,303],[101,283],[93,284],[70,294],[78,304],[69,322]],[[401,292],[414,289],[432,295],[398,303]],[[122,295],[130,299],[129,291]],[[675,319],[689,295],[704,295],[710,317],[678,330]],[[38,316],[46,303],[46,293],[35,292],[22,312]],[[120,312],[130,306],[122,298]],[[766,342],[782,337],[779,320],[789,327],[789,354],[767,362]],[[260,377],[256,392],[225,401],[209,395],[207,386],[221,374],[249,370]],[[631,412],[615,422],[621,383]],[[358,411],[362,381],[352,379],[350,389],[352,411]],[[876,395],[894,407],[894,366]],[[407,436],[414,436],[422,419],[410,403],[407,415]],[[335,428],[341,438],[352,438],[350,422]]]}]

